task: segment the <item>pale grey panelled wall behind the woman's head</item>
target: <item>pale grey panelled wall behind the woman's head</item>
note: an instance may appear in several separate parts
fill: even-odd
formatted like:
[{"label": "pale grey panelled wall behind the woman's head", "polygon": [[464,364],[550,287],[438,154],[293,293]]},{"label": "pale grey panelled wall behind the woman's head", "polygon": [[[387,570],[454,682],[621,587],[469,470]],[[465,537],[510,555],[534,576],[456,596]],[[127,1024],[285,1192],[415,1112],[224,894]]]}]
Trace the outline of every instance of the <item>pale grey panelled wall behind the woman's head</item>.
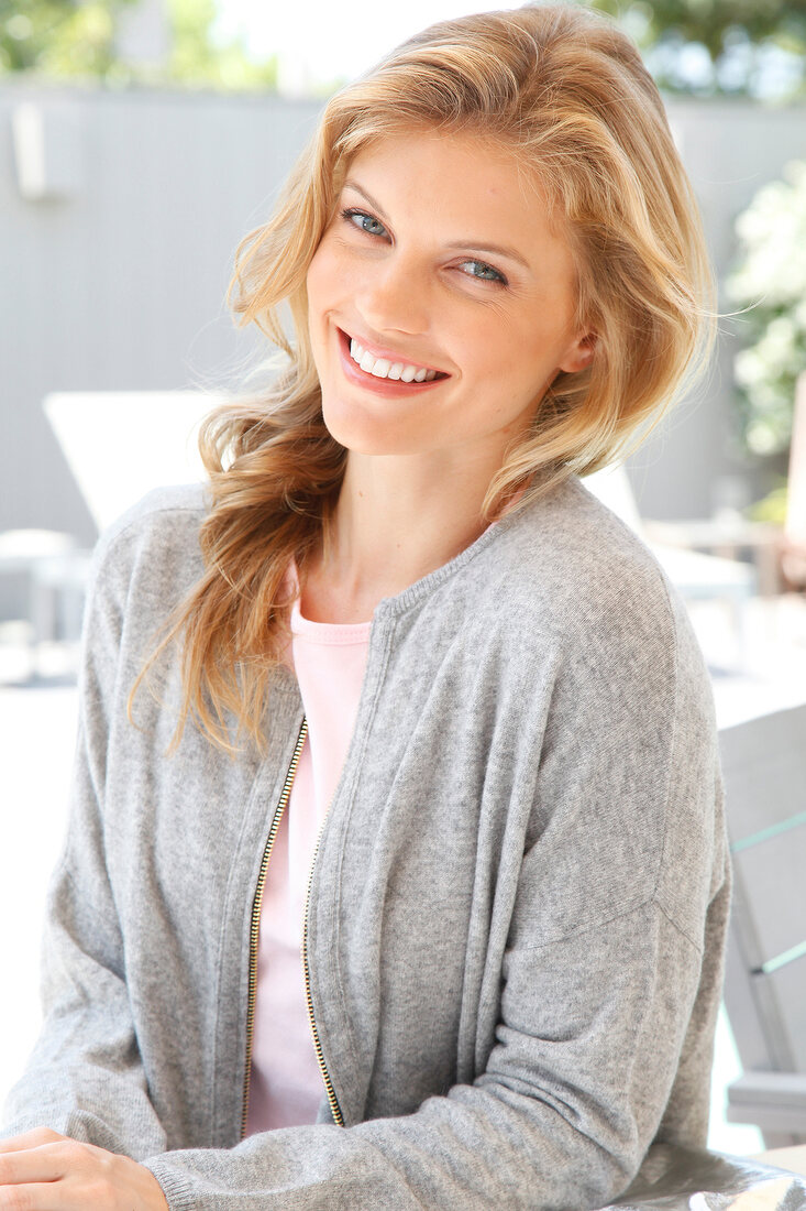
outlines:
[{"label": "pale grey panelled wall behind the woman's head", "polygon": [[[21,195],[12,138],[12,111],[29,101],[46,116],[50,196],[40,200]],[[41,411],[46,392],[232,381],[252,348],[223,305],[232,253],[267,213],[317,110],[275,97],[4,82],[0,530],[94,538]],[[735,216],[787,160],[806,156],[806,109],[673,101],[669,111],[724,272]],[[708,515],[715,481],[741,466],[730,438],[732,339],[726,331],[698,400],[631,461],[647,517]],[[116,457],[125,449],[121,432]]]}]

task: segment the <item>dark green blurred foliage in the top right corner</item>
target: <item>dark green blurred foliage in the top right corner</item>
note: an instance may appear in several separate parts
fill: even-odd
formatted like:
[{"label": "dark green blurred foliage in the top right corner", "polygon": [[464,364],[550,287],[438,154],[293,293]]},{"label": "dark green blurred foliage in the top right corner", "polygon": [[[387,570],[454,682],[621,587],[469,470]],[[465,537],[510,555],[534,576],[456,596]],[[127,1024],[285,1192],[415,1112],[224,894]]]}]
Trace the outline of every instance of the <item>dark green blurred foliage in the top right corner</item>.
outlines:
[{"label": "dark green blurred foliage in the top right corner", "polygon": [[806,0],[591,0],[674,92],[788,99],[806,91]]}]

